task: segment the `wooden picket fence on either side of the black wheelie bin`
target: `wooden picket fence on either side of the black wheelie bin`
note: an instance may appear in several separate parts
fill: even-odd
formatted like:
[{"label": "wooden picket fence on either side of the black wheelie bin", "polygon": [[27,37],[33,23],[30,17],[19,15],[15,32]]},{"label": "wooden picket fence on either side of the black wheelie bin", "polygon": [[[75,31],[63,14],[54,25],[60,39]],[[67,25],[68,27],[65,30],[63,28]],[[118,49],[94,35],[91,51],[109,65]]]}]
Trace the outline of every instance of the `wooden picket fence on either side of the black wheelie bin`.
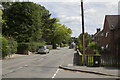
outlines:
[{"label": "wooden picket fence on either side of the black wheelie bin", "polygon": [[[83,58],[83,57],[82,57]],[[100,66],[109,66],[109,67],[116,67],[119,66],[119,61],[118,61],[118,57],[114,57],[114,56],[99,56],[99,64]],[[86,66],[94,66],[94,59],[95,56],[94,55],[87,55],[85,56],[85,62],[86,62]]]}]

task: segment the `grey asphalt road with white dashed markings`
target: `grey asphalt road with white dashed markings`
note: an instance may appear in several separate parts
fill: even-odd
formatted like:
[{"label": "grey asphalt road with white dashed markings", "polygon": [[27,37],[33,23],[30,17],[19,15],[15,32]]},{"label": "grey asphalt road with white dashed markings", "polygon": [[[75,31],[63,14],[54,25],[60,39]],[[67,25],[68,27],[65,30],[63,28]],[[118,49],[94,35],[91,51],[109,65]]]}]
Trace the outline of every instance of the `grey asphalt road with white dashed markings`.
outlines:
[{"label": "grey asphalt road with white dashed markings", "polygon": [[59,69],[64,61],[70,59],[67,54],[74,53],[67,47],[51,50],[49,54],[32,54],[2,62],[3,78],[114,78],[83,72],[71,72]]}]

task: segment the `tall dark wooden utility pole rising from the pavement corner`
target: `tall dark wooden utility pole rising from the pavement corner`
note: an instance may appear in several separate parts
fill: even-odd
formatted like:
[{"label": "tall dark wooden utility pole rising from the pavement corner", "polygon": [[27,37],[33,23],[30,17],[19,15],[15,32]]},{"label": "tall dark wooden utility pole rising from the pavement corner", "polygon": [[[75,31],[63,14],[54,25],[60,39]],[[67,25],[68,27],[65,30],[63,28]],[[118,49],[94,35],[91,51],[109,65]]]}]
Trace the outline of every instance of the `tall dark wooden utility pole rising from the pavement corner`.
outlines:
[{"label": "tall dark wooden utility pole rising from the pavement corner", "polygon": [[84,34],[84,9],[83,0],[81,0],[81,14],[82,14],[82,36],[83,36],[83,66],[85,66],[85,34]]}]

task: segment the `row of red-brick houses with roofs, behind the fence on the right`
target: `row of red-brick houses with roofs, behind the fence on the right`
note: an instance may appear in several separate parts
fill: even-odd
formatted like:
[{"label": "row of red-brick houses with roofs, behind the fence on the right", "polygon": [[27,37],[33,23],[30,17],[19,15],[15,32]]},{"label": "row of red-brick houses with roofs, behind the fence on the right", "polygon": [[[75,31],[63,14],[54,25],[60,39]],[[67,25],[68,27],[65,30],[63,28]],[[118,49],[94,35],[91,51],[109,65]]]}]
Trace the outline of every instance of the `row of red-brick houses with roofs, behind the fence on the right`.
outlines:
[{"label": "row of red-brick houses with roofs, behind the fence on the right", "polygon": [[103,30],[98,30],[93,40],[106,50],[106,54],[118,56],[120,54],[120,15],[106,15]]}]

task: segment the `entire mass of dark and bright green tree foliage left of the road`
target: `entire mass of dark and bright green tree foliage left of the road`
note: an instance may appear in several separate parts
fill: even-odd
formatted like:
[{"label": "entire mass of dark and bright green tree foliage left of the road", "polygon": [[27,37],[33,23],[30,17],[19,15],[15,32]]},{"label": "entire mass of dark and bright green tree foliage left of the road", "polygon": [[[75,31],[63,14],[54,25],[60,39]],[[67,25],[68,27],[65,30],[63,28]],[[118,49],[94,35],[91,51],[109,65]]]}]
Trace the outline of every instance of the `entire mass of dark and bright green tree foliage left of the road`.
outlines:
[{"label": "entire mass of dark and bright green tree foliage left of the road", "polygon": [[51,18],[49,11],[33,2],[3,3],[4,36],[12,36],[18,43],[46,41],[55,45],[68,42],[72,30]]}]

